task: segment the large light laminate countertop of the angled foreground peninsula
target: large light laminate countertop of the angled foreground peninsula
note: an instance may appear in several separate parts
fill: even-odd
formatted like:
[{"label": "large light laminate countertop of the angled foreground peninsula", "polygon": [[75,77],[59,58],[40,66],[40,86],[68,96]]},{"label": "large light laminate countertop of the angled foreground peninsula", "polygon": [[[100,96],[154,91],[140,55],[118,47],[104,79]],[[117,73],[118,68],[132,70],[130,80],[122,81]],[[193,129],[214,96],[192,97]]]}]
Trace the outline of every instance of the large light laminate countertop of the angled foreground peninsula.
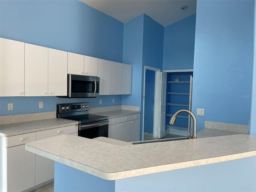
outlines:
[{"label": "large light laminate countertop of the angled foreground peninsula", "polygon": [[108,142],[108,138],[62,135],[27,143],[26,150],[106,180],[117,180],[255,156],[256,136],[235,134],[126,145]]}]

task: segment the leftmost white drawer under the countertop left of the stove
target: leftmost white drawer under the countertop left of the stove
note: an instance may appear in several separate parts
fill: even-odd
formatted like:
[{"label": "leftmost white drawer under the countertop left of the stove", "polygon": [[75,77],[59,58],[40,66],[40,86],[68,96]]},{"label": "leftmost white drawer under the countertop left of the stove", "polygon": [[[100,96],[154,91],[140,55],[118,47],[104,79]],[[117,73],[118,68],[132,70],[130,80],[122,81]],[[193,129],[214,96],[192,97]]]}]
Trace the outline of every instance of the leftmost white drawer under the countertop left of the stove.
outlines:
[{"label": "leftmost white drawer under the countertop left of the stove", "polygon": [[36,132],[26,133],[21,135],[14,135],[7,137],[6,145],[7,147],[13,147],[17,145],[26,144],[36,140]]}]

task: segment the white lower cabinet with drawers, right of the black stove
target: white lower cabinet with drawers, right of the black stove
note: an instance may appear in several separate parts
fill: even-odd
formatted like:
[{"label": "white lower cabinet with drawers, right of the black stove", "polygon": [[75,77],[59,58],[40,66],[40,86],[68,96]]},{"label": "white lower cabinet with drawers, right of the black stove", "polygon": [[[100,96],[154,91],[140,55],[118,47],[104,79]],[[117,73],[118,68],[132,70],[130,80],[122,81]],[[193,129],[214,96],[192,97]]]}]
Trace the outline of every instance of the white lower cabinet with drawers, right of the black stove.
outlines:
[{"label": "white lower cabinet with drawers, right of the black stove", "polygon": [[133,142],[140,140],[140,114],[110,118],[108,137]]}]

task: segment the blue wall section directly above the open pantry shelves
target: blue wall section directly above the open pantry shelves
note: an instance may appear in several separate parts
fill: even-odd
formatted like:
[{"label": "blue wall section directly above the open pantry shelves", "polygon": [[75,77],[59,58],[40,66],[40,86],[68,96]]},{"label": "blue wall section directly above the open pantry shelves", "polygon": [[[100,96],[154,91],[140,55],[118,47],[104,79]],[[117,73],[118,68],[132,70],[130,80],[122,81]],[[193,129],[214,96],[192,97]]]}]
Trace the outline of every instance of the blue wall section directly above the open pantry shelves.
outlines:
[{"label": "blue wall section directly above the open pantry shelves", "polygon": [[164,28],[163,70],[193,69],[196,14]]}]

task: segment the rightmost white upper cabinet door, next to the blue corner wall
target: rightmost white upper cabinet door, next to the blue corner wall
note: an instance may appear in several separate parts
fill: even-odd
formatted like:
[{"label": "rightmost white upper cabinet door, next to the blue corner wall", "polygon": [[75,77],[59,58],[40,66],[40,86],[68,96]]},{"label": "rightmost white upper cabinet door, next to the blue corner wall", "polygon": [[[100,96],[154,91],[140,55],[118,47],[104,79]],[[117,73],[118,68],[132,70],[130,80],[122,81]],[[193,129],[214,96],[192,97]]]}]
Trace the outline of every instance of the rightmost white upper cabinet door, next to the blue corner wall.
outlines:
[{"label": "rightmost white upper cabinet door, next to the blue corner wall", "polygon": [[132,94],[132,65],[122,64],[122,94]]}]

